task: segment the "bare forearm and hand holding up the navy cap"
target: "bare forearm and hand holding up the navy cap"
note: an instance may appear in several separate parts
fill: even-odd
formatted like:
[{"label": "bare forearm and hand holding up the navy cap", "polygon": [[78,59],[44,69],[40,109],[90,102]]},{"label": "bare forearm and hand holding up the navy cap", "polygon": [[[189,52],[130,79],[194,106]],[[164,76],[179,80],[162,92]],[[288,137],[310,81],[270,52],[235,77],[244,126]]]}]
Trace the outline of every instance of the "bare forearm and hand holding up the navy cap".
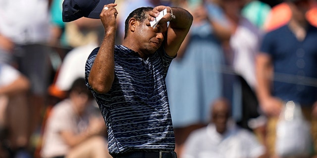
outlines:
[{"label": "bare forearm and hand holding up the navy cap", "polygon": [[98,93],[106,93],[110,90],[114,79],[114,41],[117,29],[116,4],[105,5],[100,14],[100,19],[105,28],[104,40],[90,70],[89,84]]}]

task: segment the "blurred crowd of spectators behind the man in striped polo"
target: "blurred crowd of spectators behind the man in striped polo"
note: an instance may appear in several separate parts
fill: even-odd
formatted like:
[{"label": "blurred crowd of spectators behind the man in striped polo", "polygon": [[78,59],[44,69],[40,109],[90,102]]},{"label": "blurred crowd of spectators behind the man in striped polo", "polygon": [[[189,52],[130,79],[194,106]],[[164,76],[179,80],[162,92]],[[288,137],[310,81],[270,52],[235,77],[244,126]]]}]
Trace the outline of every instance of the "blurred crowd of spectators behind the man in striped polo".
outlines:
[{"label": "blurred crowd of spectators behind the man in striped polo", "polygon": [[[0,158],[111,158],[83,80],[104,28],[85,17],[64,23],[62,2],[0,0]],[[135,8],[179,6],[194,16],[166,77],[178,158],[317,155],[316,0],[115,3],[116,44]],[[278,132],[287,107],[302,122]],[[278,144],[286,133],[303,149]]]}]

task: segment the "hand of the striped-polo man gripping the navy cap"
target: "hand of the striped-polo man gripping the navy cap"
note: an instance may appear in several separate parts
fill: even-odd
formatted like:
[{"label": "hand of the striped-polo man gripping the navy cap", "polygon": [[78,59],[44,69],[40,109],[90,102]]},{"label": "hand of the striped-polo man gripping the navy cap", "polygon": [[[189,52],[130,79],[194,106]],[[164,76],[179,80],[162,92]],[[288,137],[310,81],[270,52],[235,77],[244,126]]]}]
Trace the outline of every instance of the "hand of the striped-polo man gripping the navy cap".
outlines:
[{"label": "hand of the striped-polo man gripping the navy cap", "polygon": [[118,11],[116,10],[115,6],[117,6],[117,4],[107,4],[100,13],[100,19],[104,25],[105,32],[115,32],[117,29],[116,17]]}]

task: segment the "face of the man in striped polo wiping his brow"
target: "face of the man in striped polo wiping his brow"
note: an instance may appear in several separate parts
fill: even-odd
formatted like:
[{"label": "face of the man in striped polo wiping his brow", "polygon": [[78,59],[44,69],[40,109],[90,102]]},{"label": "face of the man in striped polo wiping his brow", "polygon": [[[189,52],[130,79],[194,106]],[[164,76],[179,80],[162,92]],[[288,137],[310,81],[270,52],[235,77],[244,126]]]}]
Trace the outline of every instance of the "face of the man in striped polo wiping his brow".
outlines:
[{"label": "face of the man in striped polo wiping his brow", "polygon": [[159,49],[166,37],[167,23],[161,20],[153,29],[151,26],[147,26],[145,22],[138,21],[136,27],[136,40],[141,50],[139,53],[143,53],[144,56],[152,55]]}]

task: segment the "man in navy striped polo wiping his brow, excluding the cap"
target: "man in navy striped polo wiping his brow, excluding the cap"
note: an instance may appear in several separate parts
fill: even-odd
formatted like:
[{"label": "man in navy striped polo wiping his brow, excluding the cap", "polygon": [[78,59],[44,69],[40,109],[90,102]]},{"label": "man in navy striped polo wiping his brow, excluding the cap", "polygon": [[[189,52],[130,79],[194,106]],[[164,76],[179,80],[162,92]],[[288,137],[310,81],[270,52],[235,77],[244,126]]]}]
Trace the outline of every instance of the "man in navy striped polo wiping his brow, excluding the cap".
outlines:
[{"label": "man in navy striped polo wiping his brow, excluding the cap", "polygon": [[106,121],[108,151],[113,158],[176,158],[165,77],[193,17],[179,7],[137,8],[125,21],[122,45],[115,45],[115,6],[105,5],[100,14],[104,39],[85,68]]}]

